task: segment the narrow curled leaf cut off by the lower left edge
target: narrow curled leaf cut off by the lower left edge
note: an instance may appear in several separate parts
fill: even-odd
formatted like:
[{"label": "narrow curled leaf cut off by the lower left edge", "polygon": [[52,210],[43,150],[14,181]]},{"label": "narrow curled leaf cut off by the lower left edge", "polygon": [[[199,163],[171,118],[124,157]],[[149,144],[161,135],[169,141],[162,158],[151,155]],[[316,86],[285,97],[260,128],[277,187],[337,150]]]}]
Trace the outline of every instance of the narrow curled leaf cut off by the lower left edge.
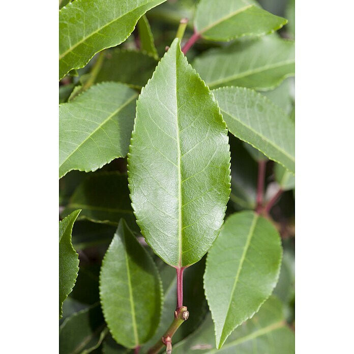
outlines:
[{"label": "narrow curled leaf cut off by the lower left edge", "polygon": [[79,255],[71,244],[71,231],[81,210],[75,210],[59,222],[59,318],[63,302],[72,291],[79,271]]}]

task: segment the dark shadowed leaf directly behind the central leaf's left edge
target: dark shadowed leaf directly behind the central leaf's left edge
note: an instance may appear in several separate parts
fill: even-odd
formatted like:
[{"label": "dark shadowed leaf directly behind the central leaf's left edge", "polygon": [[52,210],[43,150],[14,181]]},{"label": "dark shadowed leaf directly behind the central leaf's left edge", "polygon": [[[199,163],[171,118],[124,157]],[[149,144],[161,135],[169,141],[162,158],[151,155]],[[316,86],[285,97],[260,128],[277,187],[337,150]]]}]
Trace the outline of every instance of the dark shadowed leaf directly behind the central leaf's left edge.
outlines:
[{"label": "dark shadowed leaf directly behind the central leaf's left edge", "polygon": [[80,208],[80,219],[117,225],[125,218],[129,226],[138,231],[130,203],[125,173],[94,173],[77,187],[62,215]]}]

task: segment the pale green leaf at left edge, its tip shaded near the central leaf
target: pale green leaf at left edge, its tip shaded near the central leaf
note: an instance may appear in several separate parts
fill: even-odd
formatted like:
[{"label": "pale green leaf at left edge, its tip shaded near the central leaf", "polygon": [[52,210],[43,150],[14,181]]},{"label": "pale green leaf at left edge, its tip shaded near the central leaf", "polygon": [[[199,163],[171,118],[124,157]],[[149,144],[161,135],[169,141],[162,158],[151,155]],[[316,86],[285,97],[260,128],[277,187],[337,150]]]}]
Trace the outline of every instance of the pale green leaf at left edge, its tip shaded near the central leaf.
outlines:
[{"label": "pale green leaf at left edge, its tip shaded near the central leaf", "polygon": [[59,106],[60,178],[127,155],[137,97],[122,83],[105,82]]}]

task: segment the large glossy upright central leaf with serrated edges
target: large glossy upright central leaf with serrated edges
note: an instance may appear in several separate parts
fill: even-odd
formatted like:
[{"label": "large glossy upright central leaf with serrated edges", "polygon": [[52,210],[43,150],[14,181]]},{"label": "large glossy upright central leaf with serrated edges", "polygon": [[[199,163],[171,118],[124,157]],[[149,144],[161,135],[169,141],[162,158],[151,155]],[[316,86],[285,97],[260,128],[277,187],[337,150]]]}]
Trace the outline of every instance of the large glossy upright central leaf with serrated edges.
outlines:
[{"label": "large glossy upright central leaf with serrated edges", "polygon": [[229,162],[219,107],[175,39],[141,91],[128,154],[137,223],[166,263],[188,267],[217,238]]}]

